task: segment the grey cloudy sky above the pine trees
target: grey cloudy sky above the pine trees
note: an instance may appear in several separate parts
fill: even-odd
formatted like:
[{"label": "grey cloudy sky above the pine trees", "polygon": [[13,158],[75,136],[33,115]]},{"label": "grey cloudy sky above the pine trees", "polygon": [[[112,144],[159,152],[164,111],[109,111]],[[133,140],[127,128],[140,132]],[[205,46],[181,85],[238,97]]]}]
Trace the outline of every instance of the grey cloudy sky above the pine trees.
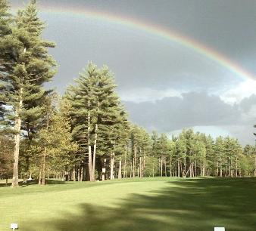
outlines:
[{"label": "grey cloudy sky above the pine trees", "polygon": [[[88,61],[114,72],[130,120],[148,131],[193,128],[254,144],[256,124],[256,1],[41,0],[44,38],[58,74],[48,87],[63,94]],[[27,1],[11,1],[14,9]],[[81,14],[75,14],[80,11]],[[183,43],[89,12],[176,32],[226,57],[249,78]],[[128,23],[129,24],[129,23]]]}]

